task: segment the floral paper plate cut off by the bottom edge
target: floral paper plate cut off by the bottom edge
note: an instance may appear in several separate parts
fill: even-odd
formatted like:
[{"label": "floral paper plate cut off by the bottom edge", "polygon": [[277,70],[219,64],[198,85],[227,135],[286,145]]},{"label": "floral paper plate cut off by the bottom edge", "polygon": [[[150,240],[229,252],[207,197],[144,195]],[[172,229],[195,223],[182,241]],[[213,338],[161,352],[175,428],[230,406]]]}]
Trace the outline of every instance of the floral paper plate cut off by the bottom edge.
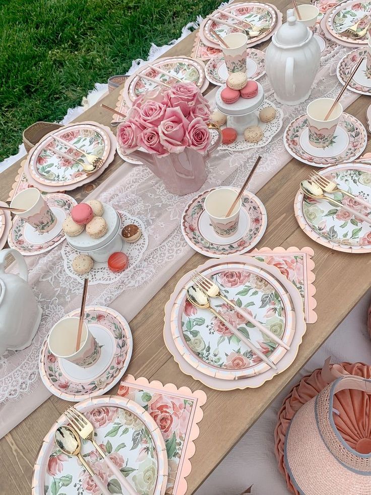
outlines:
[{"label": "floral paper plate cut off by the bottom edge", "polygon": [[[161,431],[150,414],[125,397],[103,396],[75,405],[94,426],[95,441],[108,453],[138,495],[163,495],[168,461]],[[54,441],[56,429],[69,421],[61,415],[45,435],[32,475],[32,495],[98,495],[101,493],[77,457],[63,454]],[[85,461],[107,485],[107,493],[121,493],[91,442],[82,441]]]}]

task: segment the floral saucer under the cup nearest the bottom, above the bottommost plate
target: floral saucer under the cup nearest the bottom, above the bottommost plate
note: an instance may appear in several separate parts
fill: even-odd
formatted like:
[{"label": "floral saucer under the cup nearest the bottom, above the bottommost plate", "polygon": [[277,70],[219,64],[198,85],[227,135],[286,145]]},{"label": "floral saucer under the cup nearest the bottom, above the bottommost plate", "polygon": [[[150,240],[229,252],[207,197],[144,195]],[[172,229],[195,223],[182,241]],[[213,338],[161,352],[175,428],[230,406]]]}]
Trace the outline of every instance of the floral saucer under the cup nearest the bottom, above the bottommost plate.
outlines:
[{"label": "floral saucer under the cup nearest the bottom, above the bottommost plate", "polygon": [[[79,316],[80,309],[66,316]],[[45,387],[57,397],[79,402],[105,394],[125,373],[133,352],[129,323],[117,311],[100,306],[85,308],[85,322],[101,351],[98,361],[88,368],[56,358],[47,338],[40,352],[39,371]]]}]

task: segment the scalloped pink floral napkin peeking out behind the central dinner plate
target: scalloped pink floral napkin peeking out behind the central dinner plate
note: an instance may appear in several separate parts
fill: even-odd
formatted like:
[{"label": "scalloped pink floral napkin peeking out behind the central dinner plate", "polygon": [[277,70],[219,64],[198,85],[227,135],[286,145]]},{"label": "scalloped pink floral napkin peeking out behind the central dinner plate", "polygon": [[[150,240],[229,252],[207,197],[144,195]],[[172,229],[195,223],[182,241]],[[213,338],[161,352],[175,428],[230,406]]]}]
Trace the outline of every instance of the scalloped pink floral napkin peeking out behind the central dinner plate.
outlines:
[{"label": "scalloped pink floral napkin peeking out behind the central dinner plate", "polygon": [[283,247],[274,249],[264,247],[245,253],[245,256],[253,256],[269,265],[277,266],[287,280],[294,284],[303,300],[306,323],[315,323],[317,321],[317,313],[315,312],[317,301],[314,298],[316,288],[313,285],[316,279],[313,272],[315,262],[312,257],[314,253],[310,247],[299,249],[294,246],[287,249]]}]

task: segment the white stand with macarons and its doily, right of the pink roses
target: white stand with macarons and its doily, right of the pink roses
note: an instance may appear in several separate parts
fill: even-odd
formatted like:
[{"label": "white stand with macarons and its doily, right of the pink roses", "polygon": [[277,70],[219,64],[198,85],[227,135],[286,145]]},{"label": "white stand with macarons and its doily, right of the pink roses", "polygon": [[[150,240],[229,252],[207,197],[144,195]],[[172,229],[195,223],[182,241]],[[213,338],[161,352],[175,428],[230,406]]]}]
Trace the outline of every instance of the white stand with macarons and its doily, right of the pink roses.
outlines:
[{"label": "white stand with macarons and its doily, right of the pink roses", "polygon": [[283,113],[265,100],[261,84],[242,72],[230,74],[215,96],[210,121],[222,128],[222,147],[236,151],[268,144],[282,127]]}]

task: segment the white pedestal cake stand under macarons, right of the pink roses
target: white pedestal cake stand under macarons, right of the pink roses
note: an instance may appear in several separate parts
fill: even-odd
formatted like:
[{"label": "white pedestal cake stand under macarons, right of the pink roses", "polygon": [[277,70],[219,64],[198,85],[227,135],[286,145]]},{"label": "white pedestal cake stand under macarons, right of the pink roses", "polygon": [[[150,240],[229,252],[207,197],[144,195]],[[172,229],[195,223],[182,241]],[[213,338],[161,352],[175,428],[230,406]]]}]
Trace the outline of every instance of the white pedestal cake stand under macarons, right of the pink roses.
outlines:
[{"label": "white pedestal cake stand under macarons, right of the pink roses", "polygon": [[258,84],[258,94],[253,98],[239,97],[235,103],[227,104],[221,99],[220,93],[226,87],[220,86],[215,96],[215,104],[218,110],[227,116],[227,127],[233,127],[237,134],[243,134],[246,127],[257,126],[259,123],[257,108],[264,101],[264,90]]}]

